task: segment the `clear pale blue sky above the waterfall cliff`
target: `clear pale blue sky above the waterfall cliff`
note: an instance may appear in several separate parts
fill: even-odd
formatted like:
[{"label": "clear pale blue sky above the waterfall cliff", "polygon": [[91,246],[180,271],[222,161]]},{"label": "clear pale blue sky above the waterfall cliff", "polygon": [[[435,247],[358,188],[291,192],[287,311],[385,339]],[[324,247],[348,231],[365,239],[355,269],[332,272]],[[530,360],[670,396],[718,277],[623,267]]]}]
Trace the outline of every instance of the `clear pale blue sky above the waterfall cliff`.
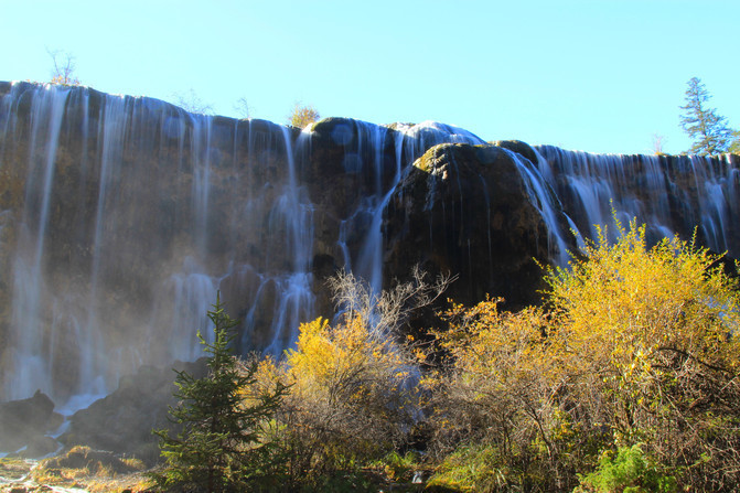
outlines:
[{"label": "clear pale blue sky above the waterfall cliff", "polygon": [[738,0],[0,0],[0,79],[49,81],[285,122],[293,103],[375,124],[590,152],[689,147],[687,81],[740,128]]}]

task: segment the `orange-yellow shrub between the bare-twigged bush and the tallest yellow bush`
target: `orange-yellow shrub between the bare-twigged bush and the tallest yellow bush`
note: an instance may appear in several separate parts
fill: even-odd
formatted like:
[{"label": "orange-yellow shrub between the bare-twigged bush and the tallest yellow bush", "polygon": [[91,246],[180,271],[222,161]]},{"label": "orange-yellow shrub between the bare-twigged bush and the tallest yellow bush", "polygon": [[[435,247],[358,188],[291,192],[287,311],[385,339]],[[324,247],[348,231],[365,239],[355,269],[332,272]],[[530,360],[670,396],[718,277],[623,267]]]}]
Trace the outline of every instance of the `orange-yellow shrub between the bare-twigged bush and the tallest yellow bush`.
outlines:
[{"label": "orange-yellow shrub between the bare-twigged bush and the tallest yellow bush", "polygon": [[431,453],[446,464],[437,481],[464,476],[474,491],[571,489],[604,432],[562,398],[568,381],[551,355],[550,317],[502,312],[500,301],[453,306],[443,314],[449,330],[437,333],[444,360],[423,381]]}]

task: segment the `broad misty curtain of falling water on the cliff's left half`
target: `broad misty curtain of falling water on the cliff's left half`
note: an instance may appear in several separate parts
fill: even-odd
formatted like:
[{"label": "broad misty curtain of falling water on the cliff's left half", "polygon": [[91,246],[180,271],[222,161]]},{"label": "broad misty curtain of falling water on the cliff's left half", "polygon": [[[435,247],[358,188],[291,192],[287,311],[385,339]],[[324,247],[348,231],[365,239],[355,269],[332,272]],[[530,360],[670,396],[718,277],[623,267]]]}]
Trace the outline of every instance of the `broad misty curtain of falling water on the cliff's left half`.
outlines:
[{"label": "broad misty curtain of falling water on the cliff's left half", "polygon": [[285,127],[25,83],[2,108],[0,169],[24,190],[3,211],[4,398],[104,393],[141,364],[197,357],[216,291],[244,272],[224,298],[272,320],[258,347],[279,352],[312,314],[311,203]]}]

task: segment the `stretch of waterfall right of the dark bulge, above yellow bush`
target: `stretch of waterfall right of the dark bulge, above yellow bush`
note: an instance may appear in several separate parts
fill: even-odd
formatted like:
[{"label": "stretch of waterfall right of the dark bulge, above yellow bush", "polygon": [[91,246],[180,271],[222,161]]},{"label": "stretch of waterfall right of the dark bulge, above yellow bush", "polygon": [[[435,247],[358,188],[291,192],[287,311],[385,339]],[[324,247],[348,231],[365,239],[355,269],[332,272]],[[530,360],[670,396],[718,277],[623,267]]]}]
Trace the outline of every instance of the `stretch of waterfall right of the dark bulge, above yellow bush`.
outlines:
[{"label": "stretch of waterfall right of the dark bulge, above yellow bush", "polygon": [[[729,154],[622,156],[589,154],[551,146],[535,147],[538,167],[568,215],[586,236],[596,225],[611,225],[612,208],[626,224],[635,217],[648,227],[652,240],[678,234],[737,258],[738,165]],[[613,228],[611,234],[614,235]],[[613,236],[612,236],[613,239]]]}]

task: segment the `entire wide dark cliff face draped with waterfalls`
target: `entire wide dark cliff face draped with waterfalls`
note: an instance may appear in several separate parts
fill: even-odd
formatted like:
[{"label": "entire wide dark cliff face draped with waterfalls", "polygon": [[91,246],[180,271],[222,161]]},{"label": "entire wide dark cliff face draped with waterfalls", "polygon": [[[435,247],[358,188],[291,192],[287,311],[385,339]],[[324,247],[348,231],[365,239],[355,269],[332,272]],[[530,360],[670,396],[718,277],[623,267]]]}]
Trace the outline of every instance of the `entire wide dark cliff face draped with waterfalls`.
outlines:
[{"label": "entire wide dark cliff face draped with waterfalls", "polygon": [[300,131],[0,83],[0,399],[105,394],[194,361],[217,291],[242,351],[279,354],[331,314],[340,268],[382,289],[418,262],[458,275],[462,301],[534,302],[534,259],[565,265],[570,229],[612,206],[737,255],[738,181],[736,158],[490,144],[432,122]]}]

